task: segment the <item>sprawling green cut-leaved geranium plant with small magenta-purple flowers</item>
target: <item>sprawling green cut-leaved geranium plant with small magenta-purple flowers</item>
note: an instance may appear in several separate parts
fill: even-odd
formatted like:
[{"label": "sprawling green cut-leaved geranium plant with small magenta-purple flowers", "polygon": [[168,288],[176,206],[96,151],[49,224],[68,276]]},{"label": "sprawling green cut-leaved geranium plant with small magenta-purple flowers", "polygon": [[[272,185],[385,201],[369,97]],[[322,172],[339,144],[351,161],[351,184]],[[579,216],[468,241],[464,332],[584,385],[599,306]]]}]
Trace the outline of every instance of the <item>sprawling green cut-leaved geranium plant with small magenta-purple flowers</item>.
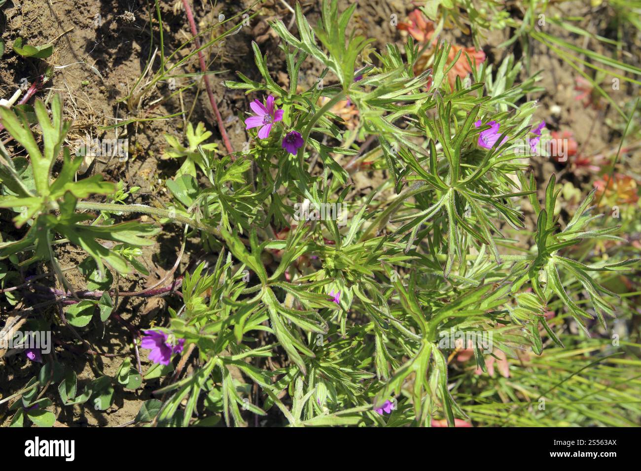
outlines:
[{"label": "sprawling green cut-leaved geranium plant with small magenta-purple flowers", "polygon": [[[401,25],[404,42],[376,49],[351,26],[356,8],[324,1],[312,28],[296,4],[296,28],[270,23],[285,72],[254,41],[253,64],[224,82],[247,97],[229,120],[242,149],[214,145],[207,123],[185,126],[187,145],[166,135],[165,163],[185,160],[158,183],[162,204],[133,204],[131,188],[100,174],[78,178],[85,156],[68,145],[59,95],[49,110],[36,101],[35,124],[0,106],[24,151],[0,144],[0,208],[15,226],[0,257],[14,277],[39,263],[51,280],[38,272],[6,292],[45,303],[40,322],[71,333],[74,354],[113,354],[92,345],[94,329],[130,335],[119,366],[84,391],[76,372],[52,370],[61,406],[104,410],[114,392],[149,388],[135,424],[468,427],[498,424],[505,404],[528,424],[528,404],[554,386],[531,379],[551,375],[545,352],[609,332],[626,306],[616,285],[633,286],[637,259],[599,203],[637,204],[635,181],[603,176],[596,199],[564,206],[556,175],[535,176],[529,160],[553,166],[535,152],[554,128],[531,99],[537,74],[511,55],[488,70],[485,53],[437,39],[420,12]],[[310,62],[316,76],[303,80]],[[159,235],[170,224],[179,231]],[[63,244],[83,255],[72,268],[85,286],[65,274]],[[154,244],[176,245],[160,281],[142,263]],[[155,296],[166,303],[118,309]],[[55,362],[39,349],[21,358]],[[15,424],[42,417],[27,409],[40,383],[26,386]]]}]

